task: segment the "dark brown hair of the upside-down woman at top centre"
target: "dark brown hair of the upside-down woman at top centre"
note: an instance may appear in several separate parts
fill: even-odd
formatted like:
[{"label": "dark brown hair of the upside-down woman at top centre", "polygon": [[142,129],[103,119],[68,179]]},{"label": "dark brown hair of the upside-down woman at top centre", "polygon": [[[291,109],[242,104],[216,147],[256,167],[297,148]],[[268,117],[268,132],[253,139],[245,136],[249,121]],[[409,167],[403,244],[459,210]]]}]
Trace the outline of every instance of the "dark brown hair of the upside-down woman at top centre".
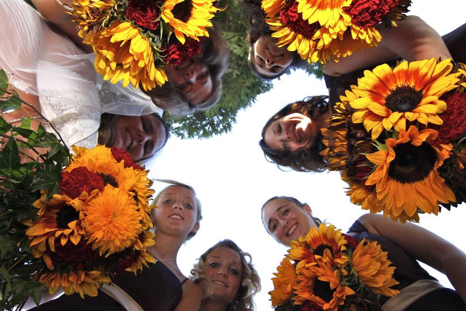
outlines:
[{"label": "dark brown hair of the upside-down woman at top centre", "polygon": [[243,9],[250,26],[248,36],[246,38],[246,41],[249,45],[248,66],[255,75],[264,80],[273,80],[285,73],[289,74],[291,69],[305,69],[307,66],[307,61],[302,60],[297,52],[290,52],[293,53],[293,62],[290,66],[288,66],[288,68],[277,73],[277,75],[268,77],[257,72],[257,69],[254,66],[254,44],[260,36],[270,36],[273,32],[270,30],[268,24],[266,23],[266,15],[261,8],[261,0],[244,0]]}]

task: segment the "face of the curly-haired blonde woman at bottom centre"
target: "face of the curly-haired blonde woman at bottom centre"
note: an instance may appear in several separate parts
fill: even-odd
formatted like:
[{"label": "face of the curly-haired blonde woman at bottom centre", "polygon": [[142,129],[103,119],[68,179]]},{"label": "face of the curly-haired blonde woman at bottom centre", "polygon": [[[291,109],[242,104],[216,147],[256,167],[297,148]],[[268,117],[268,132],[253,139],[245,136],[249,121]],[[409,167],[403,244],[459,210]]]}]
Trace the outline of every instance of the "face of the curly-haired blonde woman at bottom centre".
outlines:
[{"label": "face of the curly-haired blonde woman at bottom centre", "polygon": [[204,260],[204,269],[214,285],[212,299],[226,305],[233,302],[243,273],[239,254],[228,247],[217,247]]}]

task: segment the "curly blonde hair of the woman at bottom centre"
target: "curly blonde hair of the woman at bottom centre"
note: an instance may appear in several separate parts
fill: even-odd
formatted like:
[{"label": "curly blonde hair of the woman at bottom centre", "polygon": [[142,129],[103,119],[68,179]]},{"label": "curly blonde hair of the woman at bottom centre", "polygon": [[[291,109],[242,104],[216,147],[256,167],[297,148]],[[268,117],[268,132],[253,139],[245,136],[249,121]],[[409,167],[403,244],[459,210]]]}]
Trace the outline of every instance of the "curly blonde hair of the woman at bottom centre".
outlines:
[{"label": "curly blonde hair of the woman at bottom centre", "polygon": [[[261,279],[252,265],[251,255],[243,252],[235,242],[231,240],[220,241],[209,248],[204,254],[200,255],[199,261],[194,264],[194,268],[191,270],[191,279],[200,284],[204,290],[207,290],[207,294],[204,294],[204,296],[208,297],[212,294],[212,283],[205,274],[204,261],[209,253],[218,247],[227,247],[235,251],[241,258],[243,266],[241,286],[238,289],[238,294],[226,311],[254,311],[255,306],[252,298],[261,290]],[[205,310],[202,305],[200,310]]]}]

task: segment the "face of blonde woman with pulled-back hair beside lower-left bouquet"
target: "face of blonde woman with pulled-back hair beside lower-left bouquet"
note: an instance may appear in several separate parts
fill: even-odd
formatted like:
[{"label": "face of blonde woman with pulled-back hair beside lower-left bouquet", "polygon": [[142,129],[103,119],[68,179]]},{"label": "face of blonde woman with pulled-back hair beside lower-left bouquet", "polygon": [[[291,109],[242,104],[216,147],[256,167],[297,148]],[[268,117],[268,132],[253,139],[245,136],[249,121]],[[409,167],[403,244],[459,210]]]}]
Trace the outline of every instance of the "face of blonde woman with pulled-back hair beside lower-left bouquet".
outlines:
[{"label": "face of blonde woman with pulled-back hair beside lower-left bouquet", "polygon": [[152,213],[156,233],[164,232],[185,239],[190,232],[199,229],[196,196],[191,190],[178,185],[168,187],[159,195],[155,205],[158,208]]}]

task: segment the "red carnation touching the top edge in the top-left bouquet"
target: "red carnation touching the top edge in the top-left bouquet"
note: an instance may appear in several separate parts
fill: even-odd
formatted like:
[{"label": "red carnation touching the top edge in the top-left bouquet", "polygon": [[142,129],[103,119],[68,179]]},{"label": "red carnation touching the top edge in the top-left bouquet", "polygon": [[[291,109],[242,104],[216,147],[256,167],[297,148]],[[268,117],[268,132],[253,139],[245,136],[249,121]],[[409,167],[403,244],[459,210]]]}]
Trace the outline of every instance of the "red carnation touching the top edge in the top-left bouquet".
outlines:
[{"label": "red carnation touching the top edge in the top-left bouquet", "polygon": [[154,0],[128,0],[126,18],[139,27],[156,30],[160,25],[159,8]]}]

